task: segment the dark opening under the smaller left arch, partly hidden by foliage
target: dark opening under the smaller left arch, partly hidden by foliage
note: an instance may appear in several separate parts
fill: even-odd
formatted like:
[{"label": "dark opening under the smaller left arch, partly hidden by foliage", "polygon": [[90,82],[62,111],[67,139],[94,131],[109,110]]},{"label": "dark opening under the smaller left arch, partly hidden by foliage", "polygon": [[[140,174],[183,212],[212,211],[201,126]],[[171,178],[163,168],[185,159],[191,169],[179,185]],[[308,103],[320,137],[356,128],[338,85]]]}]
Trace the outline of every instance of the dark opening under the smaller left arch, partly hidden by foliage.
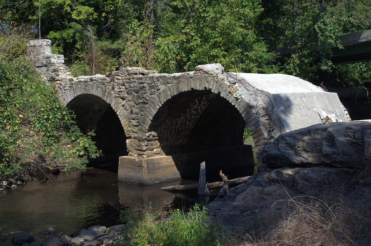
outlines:
[{"label": "dark opening under the smaller left arch, partly hidden by foliage", "polygon": [[67,108],[75,113],[76,124],[81,132],[95,130],[92,140],[102,151],[102,157],[89,160],[89,166],[117,166],[119,156],[128,155],[126,136],[119,117],[105,100],[92,94],[82,94],[73,98]]}]

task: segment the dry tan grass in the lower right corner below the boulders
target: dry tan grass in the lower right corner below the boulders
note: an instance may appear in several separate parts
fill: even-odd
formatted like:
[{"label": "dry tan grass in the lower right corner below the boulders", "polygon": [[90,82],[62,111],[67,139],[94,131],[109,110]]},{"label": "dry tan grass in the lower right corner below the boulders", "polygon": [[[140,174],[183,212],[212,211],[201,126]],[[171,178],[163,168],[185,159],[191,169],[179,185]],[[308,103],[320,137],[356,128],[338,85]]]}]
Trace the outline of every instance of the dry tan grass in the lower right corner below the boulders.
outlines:
[{"label": "dry tan grass in the lower right corner below the boulders", "polygon": [[371,245],[371,184],[366,183],[359,178],[351,188],[277,201],[253,215],[255,223],[234,245]]}]

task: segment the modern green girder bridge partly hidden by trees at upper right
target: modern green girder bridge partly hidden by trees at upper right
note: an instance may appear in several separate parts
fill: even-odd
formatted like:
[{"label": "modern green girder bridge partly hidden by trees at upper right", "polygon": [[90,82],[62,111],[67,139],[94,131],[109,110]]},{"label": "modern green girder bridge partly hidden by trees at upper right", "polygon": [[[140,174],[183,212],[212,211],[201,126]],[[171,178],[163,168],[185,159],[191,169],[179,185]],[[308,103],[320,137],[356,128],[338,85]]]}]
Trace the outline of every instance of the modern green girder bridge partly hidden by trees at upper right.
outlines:
[{"label": "modern green girder bridge partly hidden by trees at upper right", "polygon": [[[371,61],[371,30],[341,35],[339,39],[343,49],[331,48],[332,56],[330,60],[334,64]],[[276,52],[282,56],[287,56],[292,53],[292,50],[289,46],[283,46],[277,48]]]}]

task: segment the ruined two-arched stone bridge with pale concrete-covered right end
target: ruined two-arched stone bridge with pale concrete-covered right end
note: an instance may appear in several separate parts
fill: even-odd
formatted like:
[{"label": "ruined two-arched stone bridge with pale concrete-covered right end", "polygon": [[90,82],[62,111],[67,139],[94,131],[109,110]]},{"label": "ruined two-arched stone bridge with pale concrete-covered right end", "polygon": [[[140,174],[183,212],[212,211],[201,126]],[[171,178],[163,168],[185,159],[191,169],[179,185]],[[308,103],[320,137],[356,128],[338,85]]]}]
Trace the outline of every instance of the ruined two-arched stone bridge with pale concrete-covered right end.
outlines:
[{"label": "ruined two-arched stone bridge with pale concrete-covered right end", "polygon": [[253,159],[251,146],[243,145],[246,125],[263,169],[260,152],[281,133],[329,118],[350,120],[335,93],[290,75],[236,74],[208,64],[177,74],[122,68],[73,78],[63,55],[51,54],[49,40],[29,46],[30,59],[45,80],[55,81],[80,128],[95,129],[98,148],[112,161],[119,158],[120,181],[198,176],[205,160],[209,172],[248,175]]}]

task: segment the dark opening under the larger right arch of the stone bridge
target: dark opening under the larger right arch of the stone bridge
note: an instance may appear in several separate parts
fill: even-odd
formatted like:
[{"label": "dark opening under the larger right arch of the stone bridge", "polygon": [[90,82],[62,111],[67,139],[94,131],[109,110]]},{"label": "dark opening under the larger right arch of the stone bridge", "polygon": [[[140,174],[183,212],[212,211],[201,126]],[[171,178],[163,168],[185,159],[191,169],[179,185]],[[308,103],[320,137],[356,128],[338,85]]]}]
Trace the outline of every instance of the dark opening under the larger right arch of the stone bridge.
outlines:
[{"label": "dark opening under the larger right arch of the stone bridge", "polygon": [[[150,124],[164,155],[171,155],[182,178],[198,179],[206,162],[210,179],[219,180],[253,172],[251,146],[244,145],[246,123],[229,101],[211,91],[177,94],[158,109]],[[208,181],[208,182],[210,182]]]}]

